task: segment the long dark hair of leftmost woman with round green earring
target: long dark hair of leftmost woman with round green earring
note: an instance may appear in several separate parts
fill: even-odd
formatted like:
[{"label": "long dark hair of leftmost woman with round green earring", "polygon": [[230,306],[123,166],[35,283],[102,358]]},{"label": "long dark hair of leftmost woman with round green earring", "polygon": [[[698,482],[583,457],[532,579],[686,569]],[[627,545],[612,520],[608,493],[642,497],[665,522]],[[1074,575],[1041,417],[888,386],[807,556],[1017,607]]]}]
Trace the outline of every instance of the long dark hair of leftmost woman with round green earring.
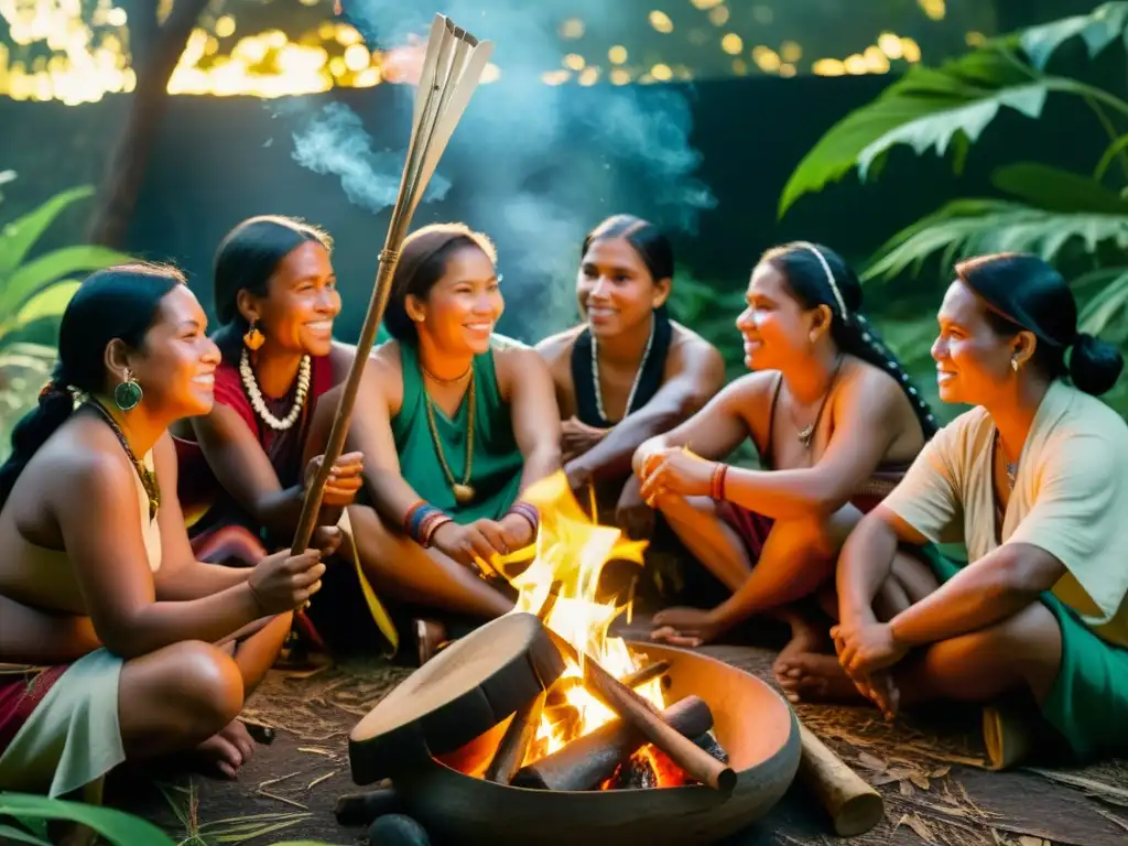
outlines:
[{"label": "long dark hair of leftmost woman with round green earring", "polygon": [[59,360],[39,404],[11,432],[11,455],[0,466],[0,509],[16,479],[47,439],[74,409],[74,391],[106,389],[106,346],[114,338],[142,349],[160,301],[184,274],[160,264],[124,264],[90,274],[67,305],[59,326]]}]

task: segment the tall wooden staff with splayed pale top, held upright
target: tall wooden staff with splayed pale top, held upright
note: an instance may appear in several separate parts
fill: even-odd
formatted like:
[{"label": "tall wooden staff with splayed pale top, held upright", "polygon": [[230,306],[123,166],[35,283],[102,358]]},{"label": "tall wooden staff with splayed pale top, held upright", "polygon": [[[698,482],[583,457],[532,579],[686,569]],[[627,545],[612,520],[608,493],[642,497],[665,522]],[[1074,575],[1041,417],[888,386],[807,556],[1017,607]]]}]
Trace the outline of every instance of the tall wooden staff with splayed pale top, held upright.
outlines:
[{"label": "tall wooden staff with splayed pale top, held upright", "polygon": [[380,250],[376,287],[372,289],[368,316],[364,318],[364,326],[356,342],[356,354],[349,368],[349,377],[345,379],[341,400],[337,403],[333,430],[325,447],[325,457],[302,501],[298,529],[291,545],[294,555],[309,547],[321,509],[325,485],[333,472],[333,465],[344,450],[364,363],[376,341],[380,321],[384,320],[384,310],[391,293],[391,279],[399,263],[399,249],[407,237],[412,215],[447,148],[447,142],[450,141],[455,126],[458,125],[470,102],[470,95],[481,81],[482,71],[485,70],[491,53],[493,53],[492,42],[479,42],[465,29],[450,23],[447,17],[434,16],[423,60],[423,73],[415,92],[407,160],[399,180],[399,194],[391,211],[384,249]]}]

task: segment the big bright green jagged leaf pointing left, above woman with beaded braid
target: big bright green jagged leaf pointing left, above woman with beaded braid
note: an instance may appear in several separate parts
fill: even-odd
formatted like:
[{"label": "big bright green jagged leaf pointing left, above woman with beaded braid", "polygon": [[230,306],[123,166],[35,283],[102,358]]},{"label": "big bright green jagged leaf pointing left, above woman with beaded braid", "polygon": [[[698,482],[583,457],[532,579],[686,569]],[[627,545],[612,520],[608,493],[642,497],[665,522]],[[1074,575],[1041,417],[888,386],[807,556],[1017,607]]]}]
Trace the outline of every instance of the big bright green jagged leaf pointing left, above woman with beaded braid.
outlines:
[{"label": "big bright green jagged leaf pointing left, above woman with beaded braid", "polygon": [[[802,195],[841,179],[854,167],[865,179],[892,147],[918,153],[957,152],[978,140],[1004,106],[1028,117],[1041,114],[1051,90],[999,44],[954,59],[938,69],[915,67],[873,103],[836,123],[791,175],[779,199],[779,217]],[[1057,87],[1064,87],[1058,81]]]}]

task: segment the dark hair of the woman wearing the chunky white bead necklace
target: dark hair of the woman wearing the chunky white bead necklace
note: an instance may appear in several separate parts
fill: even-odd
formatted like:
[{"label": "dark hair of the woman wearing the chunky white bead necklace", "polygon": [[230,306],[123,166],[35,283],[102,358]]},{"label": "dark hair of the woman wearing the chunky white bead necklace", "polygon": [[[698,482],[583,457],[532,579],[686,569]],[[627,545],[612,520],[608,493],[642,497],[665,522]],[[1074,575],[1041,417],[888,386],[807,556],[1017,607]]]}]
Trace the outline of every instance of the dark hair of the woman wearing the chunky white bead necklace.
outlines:
[{"label": "dark hair of the woman wearing the chunky white bead necklace", "polygon": [[214,340],[223,353],[223,361],[238,360],[241,337],[248,328],[247,319],[239,311],[239,291],[266,297],[271,276],[282,259],[309,241],[333,253],[328,232],[281,214],[248,218],[220,241],[212,279],[215,317],[220,324]]}]

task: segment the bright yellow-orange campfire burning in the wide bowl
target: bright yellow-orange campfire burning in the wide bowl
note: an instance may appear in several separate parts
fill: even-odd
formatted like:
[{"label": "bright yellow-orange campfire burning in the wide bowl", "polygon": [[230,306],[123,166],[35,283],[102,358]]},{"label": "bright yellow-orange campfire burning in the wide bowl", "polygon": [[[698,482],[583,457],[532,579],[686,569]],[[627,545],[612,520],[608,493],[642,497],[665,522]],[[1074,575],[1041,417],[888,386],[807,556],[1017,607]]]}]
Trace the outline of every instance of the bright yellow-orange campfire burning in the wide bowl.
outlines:
[{"label": "bright yellow-orange campfire burning in the wide bowl", "polygon": [[[627,540],[617,528],[600,526],[594,502],[591,515],[584,513],[563,474],[532,486],[525,497],[538,506],[541,522],[531,563],[510,578],[519,591],[513,613],[535,614],[543,622],[562,647],[564,671],[513,716],[493,759],[468,775],[553,790],[699,783],[650,740],[647,728],[666,723],[723,765],[728,757],[711,733],[708,706],[691,696],[671,707],[662,685],[669,663],[652,662],[632,652],[620,637],[608,635],[617,617],[629,615],[632,599],[622,605],[597,601],[603,567],[613,559],[641,566],[646,543]],[[529,552],[514,553],[495,566],[505,572],[528,561]],[[608,687],[616,688],[610,696]],[[634,707],[620,716],[620,699],[627,698]],[[649,726],[640,723],[646,712]],[[684,758],[686,744],[680,746]],[[725,772],[731,775],[724,767],[713,769],[716,778]]]}]

